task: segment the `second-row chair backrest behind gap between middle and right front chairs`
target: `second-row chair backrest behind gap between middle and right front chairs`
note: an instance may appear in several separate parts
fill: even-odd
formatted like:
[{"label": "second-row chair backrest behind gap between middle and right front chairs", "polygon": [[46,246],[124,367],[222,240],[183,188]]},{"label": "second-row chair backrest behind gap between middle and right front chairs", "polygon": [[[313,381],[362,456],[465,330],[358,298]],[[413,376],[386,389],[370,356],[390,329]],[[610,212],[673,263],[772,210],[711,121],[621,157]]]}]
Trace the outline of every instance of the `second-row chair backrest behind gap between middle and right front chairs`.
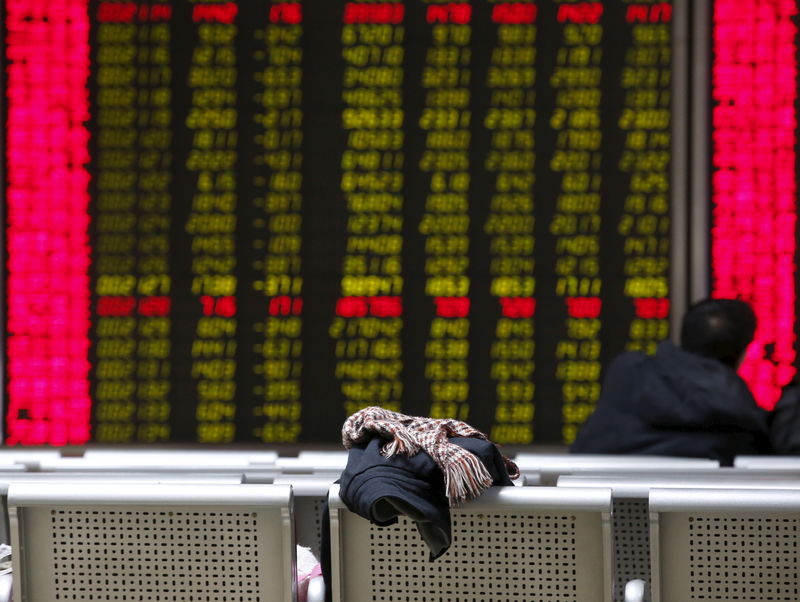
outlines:
[{"label": "second-row chair backrest behind gap between middle and right front chairs", "polygon": [[[727,470],[727,469],[726,469]],[[623,600],[625,584],[650,576],[650,513],[648,499],[654,488],[696,489],[800,489],[800,479],[774,479],[763,475],[747,477],[740,472],[717,469],[714,474],[661,474],[651,476],[565,475],[559,487],[608,487],[613,497],[611,534],[614,540],[614,576],[617,602]]]}]

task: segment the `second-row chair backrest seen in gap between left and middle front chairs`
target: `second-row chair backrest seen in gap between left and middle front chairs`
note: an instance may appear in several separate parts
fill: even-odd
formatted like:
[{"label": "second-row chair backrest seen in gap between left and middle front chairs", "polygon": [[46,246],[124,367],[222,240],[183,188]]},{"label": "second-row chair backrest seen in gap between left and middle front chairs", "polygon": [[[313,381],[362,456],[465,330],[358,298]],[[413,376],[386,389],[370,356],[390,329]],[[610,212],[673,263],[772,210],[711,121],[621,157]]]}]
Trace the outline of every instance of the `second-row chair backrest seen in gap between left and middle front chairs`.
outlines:
[{"label": "second-row chair backrest seen in gap between left and middle front chairs", "polygon": [[311,548],[317,558],[322,539],[322,512],[334,480],[334,476],[292,475],[277,477],[274,481],[276,485],[292,486],[297,545]]}]

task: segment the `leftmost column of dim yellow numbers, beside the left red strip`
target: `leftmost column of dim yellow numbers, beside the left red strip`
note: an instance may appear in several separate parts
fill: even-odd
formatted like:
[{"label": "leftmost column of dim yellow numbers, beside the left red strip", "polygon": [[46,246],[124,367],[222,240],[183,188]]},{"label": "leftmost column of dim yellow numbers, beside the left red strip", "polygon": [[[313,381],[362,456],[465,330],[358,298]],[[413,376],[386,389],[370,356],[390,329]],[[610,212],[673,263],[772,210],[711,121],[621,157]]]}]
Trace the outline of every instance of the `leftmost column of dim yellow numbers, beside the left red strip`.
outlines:
[{"label": "leftmost column of dim yellow numbers, beside the left red strip", "polygon": [[[136,259],[138,29],[102,3],[97,26],[95,204],[95,438],[136,434]],[[108,21],[105,21],[105,19]],[[126,22],[130,21],[130,22]]]}]

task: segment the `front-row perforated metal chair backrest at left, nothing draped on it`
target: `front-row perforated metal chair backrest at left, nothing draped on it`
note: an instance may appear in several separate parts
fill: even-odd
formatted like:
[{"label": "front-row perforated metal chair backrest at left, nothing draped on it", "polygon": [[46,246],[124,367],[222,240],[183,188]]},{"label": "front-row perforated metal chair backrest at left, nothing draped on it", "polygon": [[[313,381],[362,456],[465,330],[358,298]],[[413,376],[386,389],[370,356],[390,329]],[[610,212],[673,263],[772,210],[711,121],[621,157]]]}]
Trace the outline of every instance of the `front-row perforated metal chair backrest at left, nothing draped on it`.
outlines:
[{"label": "front-row perforated metal chair backrest at left, nothing draped on it", "polygon": [[285,485],[12,484],[16,602],[290,602]]}]

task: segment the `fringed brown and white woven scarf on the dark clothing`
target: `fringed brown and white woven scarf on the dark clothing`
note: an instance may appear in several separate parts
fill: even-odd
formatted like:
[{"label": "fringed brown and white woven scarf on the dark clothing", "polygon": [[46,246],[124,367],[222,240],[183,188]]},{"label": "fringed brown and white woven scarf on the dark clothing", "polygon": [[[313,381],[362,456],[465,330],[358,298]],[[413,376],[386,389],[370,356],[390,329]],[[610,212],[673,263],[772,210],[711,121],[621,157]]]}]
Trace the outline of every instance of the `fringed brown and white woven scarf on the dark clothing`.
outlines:
[{"label": "fringed brown and white woven scarf on the dark clothing", "polygon": [[[492,477],[475,454],[450,443],[450,437],[488,437],[466,422],[450,419],[420,418],[391,412],[379,407],[359,410],[342,427],[342,444],[350,449],[375,435],[390,439],[381,454],[413,456],[426,452],[444,474],[445,493],[450,506],[478,497],[492,484]],[[519,477],[517,465],[503,456],[509,477]]]}]

